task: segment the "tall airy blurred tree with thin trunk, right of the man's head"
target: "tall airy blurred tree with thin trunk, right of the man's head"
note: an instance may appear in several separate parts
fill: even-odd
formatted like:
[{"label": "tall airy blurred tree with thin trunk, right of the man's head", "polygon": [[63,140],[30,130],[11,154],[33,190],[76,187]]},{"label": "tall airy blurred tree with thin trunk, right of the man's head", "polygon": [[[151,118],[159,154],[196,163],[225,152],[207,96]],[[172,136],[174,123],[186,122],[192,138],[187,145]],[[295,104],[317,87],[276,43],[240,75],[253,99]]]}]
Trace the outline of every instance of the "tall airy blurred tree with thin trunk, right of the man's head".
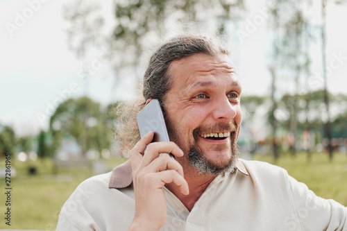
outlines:
[{"label": "tall airy blurred tree with thin trunk, right of the man's head", "polygon": [[[294,87],[286,86],[290,89],[291,97],[284,98],[282,102],[287,104],[287,110],[290,112],[289,130],[294,137],[291,144],[291,153],[296,154],[297,128],[298,128],[298,101],[299,89],[301,88],[301,76],[310,75],[310,41],[312,33],[308,24],[307,15],[310,8],[310,1],[272,1],[272,28],[275,31],[273,38],[273,65],[271,66],[271,76],[273,78],[273,91],[276,86],[276,78],[282,79],[289,76],[294,83]],[[279,17],[280,15],[280,17]],[[294,94],[292,93],[294,92]],[[272,93],[273,94],[273,93]],[[307,98],[309,99],[309,98]],[[289,102],[290,100],[290,102]],[[310,103],[310,101],[307,101]],[[290,107],[289,107],[290,104]],[[276,99],[273,99],[273,105],[276,105]],[[271,113],[272,122],[276,117]],[[276,126],[273,125],[273,130]]]}]

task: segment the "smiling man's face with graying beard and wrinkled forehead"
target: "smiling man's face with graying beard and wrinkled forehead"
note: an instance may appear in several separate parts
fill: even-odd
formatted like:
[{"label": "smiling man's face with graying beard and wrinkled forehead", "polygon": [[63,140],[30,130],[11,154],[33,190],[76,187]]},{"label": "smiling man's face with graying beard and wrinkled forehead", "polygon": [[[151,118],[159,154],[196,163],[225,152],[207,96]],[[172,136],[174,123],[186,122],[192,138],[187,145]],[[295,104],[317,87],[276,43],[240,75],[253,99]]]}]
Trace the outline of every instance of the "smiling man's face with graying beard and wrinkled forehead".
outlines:
[{"label": "smiling man's face with graying beard and wrinkled forehead", "polygon": [[241,86],[230,58],[196,54],[171,62],[169,73],[165,114],[171,141],[185,153],[178,161],[212,174],[235,164]]}]

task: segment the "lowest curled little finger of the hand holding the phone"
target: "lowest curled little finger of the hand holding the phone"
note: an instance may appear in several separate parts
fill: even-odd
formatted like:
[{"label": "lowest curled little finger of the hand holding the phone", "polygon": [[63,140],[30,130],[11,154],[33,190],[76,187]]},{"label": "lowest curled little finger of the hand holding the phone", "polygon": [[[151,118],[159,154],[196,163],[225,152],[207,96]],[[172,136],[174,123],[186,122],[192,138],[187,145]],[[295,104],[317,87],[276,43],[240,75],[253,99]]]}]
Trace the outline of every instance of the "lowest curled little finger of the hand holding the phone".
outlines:
[{"label": "lowest curled little finger of the hand holding the phone", "polygon": [[183,178],[183,176],[180,176],[180,174],[177,171],[167,170],[161,171],[160,173],[156,174],[156,177],[162,181],[162,186],[174,182],[174,184],[178,186],[182,194],[189,194],[189,187],[187,181],[185,180],[185,178]]}]

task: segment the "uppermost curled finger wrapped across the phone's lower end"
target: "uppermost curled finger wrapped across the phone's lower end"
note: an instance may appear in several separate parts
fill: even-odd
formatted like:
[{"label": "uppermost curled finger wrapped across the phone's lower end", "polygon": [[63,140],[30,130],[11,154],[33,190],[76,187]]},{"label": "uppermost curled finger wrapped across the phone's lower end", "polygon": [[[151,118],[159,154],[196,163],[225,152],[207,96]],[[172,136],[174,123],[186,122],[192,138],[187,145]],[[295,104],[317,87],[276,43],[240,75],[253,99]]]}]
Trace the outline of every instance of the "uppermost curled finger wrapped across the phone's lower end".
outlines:
[{"label": "uppermost curled finger wrapped across the phone's lower end", "polygon": [[174,142],[154,142],[147,146],[141,165],[149,165],[160,153],[171,153],[176,157],[183,156],[183,151]]}]

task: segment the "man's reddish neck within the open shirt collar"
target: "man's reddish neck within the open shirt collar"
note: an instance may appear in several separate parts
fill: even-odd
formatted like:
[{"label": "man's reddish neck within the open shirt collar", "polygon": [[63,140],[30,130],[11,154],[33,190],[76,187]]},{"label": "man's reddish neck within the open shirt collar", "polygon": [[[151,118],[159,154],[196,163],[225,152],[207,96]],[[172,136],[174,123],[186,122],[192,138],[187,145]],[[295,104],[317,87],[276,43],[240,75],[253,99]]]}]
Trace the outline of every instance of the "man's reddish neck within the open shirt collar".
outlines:
[{"label": "man's reddish neck within the open shirt collar", "polygon": [[215,177],[216,176],[208,174],[199,174],[195,169],[193,171],[189,171],[189,173],[186,173],[185,171],[185,180],[187,180],[189,186],[188,195],[181,194],[178,187],[174,183],[167,184],[165,187],[167,187],[167,189],[169,189],[190,212],[198,198],[200,198]]}]

